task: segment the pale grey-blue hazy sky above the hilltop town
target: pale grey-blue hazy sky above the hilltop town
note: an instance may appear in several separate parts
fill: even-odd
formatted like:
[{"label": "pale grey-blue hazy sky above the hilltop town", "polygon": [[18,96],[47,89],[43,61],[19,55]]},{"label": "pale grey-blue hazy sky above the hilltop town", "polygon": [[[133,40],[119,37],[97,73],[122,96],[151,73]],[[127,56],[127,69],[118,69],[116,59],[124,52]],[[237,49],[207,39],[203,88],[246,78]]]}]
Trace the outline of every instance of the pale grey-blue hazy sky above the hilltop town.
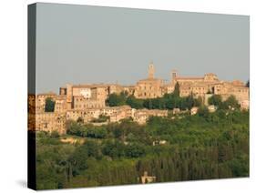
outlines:
[{"label": "pale grey-blue hazy sky above the hilltop town", "polygon": [[169,80],[249,79],[249,16],[39,3],[36,92],[67,83],[134,85],[148,63]]}]

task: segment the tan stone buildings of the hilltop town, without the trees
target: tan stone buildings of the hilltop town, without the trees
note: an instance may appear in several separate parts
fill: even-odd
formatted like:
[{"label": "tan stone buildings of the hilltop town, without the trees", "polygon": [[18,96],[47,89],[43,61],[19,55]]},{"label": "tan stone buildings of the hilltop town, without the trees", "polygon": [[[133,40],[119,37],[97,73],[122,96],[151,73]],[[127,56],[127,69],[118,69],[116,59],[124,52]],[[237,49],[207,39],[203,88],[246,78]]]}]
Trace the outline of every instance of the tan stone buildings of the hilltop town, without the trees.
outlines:
[{"label": "tan stone buildings of the hilltop town, without the trees", "polygon": [[[241,108],[249,108],[249,88],[241,81],[220,81],[212,74],[201,77],[179,76],[178,72],[171,72],[169,82],[154,76],[155,68],[151,63],[148,66],[148,78],[139,80],[134,86],[118,84],[90,84],[71,85],[59,88],[59,94],[42,93],[28,96],[28,127],[33,130],[44,130],[66,133],[67,120],[78,118],[85,123],[96,120],[100,116],[108,117],[109,122],[118,122],[131,117],[138,124],[146,123],[148,117],[167,117],[167,110],[134,109],[129,106],[108,107],[106,99],[110,94],[126,92],[136,98],[156,98],[166,93],[172,93],[176,84],[179,84],[179,96],[201,97],[208,105],[208,98],[220,95],[225,100],[233,95],[239,101]],[[54,112],[46,112],[46,98],[55,102]]]}]

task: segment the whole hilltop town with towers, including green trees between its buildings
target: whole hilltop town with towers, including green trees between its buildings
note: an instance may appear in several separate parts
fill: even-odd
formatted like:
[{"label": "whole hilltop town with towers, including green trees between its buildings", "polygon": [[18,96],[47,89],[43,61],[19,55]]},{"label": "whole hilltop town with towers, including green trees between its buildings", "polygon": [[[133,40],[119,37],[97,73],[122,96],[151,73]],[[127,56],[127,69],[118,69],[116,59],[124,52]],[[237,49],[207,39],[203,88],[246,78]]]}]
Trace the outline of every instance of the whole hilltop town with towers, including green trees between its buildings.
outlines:
[{"label": "whole hilltop town with towers, including green trees between its buildings", "polygon": [[[213,73],[204,76],[179,76],[177,70],[172,70],[171,79],[165,84],[163,79],[156,78],[155,72],[156,68],[151,62],[148,65],[148,76],[139,79],[132,86],[67,84],[59,87],[58,94],[48,92],[30,95],[30,109],[33,112],[36,110],[37,117],[36,125],[32,121],[31,128],[66,133],[67,120],[81,119],[89,123],[102,116],[109,117],[109,120],[105,119],[106,123],[132,117],[139,124],[145,124],[150,116],[167,117],[167,109],[171,109],[174,114],[178,108],[186,111],[189,109],[190,114],[195,115],[199,107],[204,105],[210,112],[214,112],[216,107],[209,103],[212,97],[220,97],[220,101],[237,101],[236,106],[241,110],[248,110],[250,107],[249,87],[240,80],[223,81]],[[169,96],[178,96],[183,103],[170,102]],[[160,102],[163,98],[169,102]],[[155,102],[149,103],[148,99]],[[188,108],[185,108],[187,103],[184,100],[190,101]],[[151,109],[153,104],[155,107]],[[167,109],[163,110],[163,107]]]}]

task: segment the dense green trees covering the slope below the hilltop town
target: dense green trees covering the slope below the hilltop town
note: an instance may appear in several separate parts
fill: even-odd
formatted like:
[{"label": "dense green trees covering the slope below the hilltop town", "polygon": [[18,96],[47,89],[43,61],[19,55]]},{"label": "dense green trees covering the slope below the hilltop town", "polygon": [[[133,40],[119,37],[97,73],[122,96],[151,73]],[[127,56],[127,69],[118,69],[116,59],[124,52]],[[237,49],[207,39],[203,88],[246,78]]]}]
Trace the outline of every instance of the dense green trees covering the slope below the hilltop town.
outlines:
[{"label": "dense green trees covering the slope below the hilltop town", "polygon": [[[150,117],[144,126],[69,122],[61,137],[37,133],[37,188],[134,184],[144,171],[157,182],[248,177],[249,112],[203,112]],[[85,142],[63,143],[63,137]]]}]

